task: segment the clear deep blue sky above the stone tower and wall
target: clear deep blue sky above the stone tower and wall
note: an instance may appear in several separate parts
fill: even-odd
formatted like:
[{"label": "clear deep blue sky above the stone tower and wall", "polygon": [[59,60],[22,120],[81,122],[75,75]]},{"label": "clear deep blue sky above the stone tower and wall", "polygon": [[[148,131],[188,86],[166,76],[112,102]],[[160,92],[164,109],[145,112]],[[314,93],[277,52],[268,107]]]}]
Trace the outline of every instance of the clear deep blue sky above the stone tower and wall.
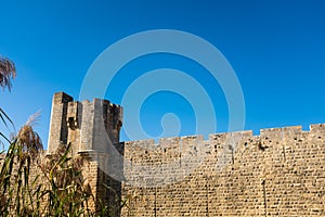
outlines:
[{"label": "clear deep blue sky above the stone tower and wall", "polygon": [[[258,133],[260,128],[302,125],[308,129],[310,124],[325,123],[322,0],[12,0],[1,2],[0,20],[0,54],[17,68],[12,91],[1,92],[0,106],[16,128],[41,110],[36,129],[46,145],[53,93],[65,91],[78,99],[89,67],[108,46],[152,29],[191,33],[222,52],[243,89],[245,129]],[[218,81],[184,56],[157,53],[131,61],[113,79],[105,98],[121,103],[132,80],[166,67],[185,72],[203,84],[217,111],[217,131],[226,131],[227,104]],[[196,132],[191,103],[180,94],[160,91],[141,107],[140,119],[148,135],[161,133],[160,119],[166,113],[178,115],[180,135]],[[128,139],[122,133],[121,140]]]}]

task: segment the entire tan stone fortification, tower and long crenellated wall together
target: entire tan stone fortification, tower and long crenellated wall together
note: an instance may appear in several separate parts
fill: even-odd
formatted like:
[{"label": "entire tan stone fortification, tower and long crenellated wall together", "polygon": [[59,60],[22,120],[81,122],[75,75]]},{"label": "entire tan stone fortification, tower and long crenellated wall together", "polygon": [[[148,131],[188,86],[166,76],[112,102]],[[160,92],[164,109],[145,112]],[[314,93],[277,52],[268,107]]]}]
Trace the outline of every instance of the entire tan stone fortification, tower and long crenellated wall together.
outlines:
[{"label": "entire tan stone fortification, tower and long crenellated wall together", "polygon": [[[115,216],[325,216],[325,125],[119,142],[122,108],[106,100],[53,97],[48,154],[72,143],[88,159],[94,203]],[[108,135],[108,136],[107,136]],[[121,159],[112,154],[116,148]],[[99,153],[114,179],[100,165]],[[93,157],[96,156],[96,157]],[[121,178],[122,177],[122,178]],[[103,183],[115,189],[107,191]],[[112,197],[113,195],[113,197]],[[117,204],[116,204],[117,203]]]}]

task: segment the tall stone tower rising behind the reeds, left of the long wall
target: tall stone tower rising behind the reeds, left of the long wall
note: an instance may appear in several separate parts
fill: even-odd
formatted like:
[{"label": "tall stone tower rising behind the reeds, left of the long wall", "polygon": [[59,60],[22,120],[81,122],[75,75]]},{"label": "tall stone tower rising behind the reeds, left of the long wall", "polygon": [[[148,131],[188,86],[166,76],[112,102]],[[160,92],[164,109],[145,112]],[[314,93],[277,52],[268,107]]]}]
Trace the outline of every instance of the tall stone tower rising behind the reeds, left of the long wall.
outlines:
[{"label": "tall stone tower rising behind the reeds, left of the long wall", "polygon": [[[78,102],[64,92],[53,95],[47,155],[53,154],[60,145],[70,144],[73,154],[83,158],[82,177],[93,194],[93,201],[89,202],[92,209],[103,204],[119,207],[116,197],[121,196],[121,183],[107,176],[104,166],[117,163],[122,166],[120,158],[109,156],[116,151],[112,146],[121,146],[118,143],[121,125],[122,107],[107,100]],[[103,158],[109,161],[101,161]],[[112,212],[119,216],[118,209]]]}]

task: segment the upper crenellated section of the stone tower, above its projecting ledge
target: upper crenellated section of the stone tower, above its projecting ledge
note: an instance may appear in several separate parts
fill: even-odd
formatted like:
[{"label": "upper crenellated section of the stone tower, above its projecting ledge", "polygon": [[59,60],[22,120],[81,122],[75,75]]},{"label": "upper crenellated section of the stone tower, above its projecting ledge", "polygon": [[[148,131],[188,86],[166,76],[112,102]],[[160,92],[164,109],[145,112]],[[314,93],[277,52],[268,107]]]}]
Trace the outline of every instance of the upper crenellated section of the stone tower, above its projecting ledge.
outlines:
[{"label": "upper crenellated section of the stone tower, above its projecting ledge", "polygon": [[106,152],[119,142],[122,107],[107,100],[82,102],[64,93],[53,97],[48,153],[61,144],[73,144],[75,152]]}]

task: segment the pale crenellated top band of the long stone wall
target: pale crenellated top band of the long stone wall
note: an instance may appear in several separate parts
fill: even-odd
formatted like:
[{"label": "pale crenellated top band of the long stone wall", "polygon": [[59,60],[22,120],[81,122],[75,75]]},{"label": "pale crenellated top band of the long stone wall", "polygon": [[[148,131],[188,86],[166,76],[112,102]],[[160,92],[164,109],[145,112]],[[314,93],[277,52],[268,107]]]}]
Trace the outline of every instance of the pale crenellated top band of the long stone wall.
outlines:
[{"label": "pale crenellated top band of the long stone wall", "polygon": [[253,135],[251,130],[211,133],[207,140],[202,135],[161,138],[158,143],[152,139],[125,142],[127,151],[132,152],[132,157],[139,155],[143,157],[151,152],[165,154],[182,153],[198,149],[223,150],[223,149],[245,149],[251,145],[268,149],[273,145],[281,148],[288,141],[299,141],[302,138],[325,137],[325,124],[310,125],[310,130],[302,130],[301,126],[265,128],[260,130],[260,135]]}]

